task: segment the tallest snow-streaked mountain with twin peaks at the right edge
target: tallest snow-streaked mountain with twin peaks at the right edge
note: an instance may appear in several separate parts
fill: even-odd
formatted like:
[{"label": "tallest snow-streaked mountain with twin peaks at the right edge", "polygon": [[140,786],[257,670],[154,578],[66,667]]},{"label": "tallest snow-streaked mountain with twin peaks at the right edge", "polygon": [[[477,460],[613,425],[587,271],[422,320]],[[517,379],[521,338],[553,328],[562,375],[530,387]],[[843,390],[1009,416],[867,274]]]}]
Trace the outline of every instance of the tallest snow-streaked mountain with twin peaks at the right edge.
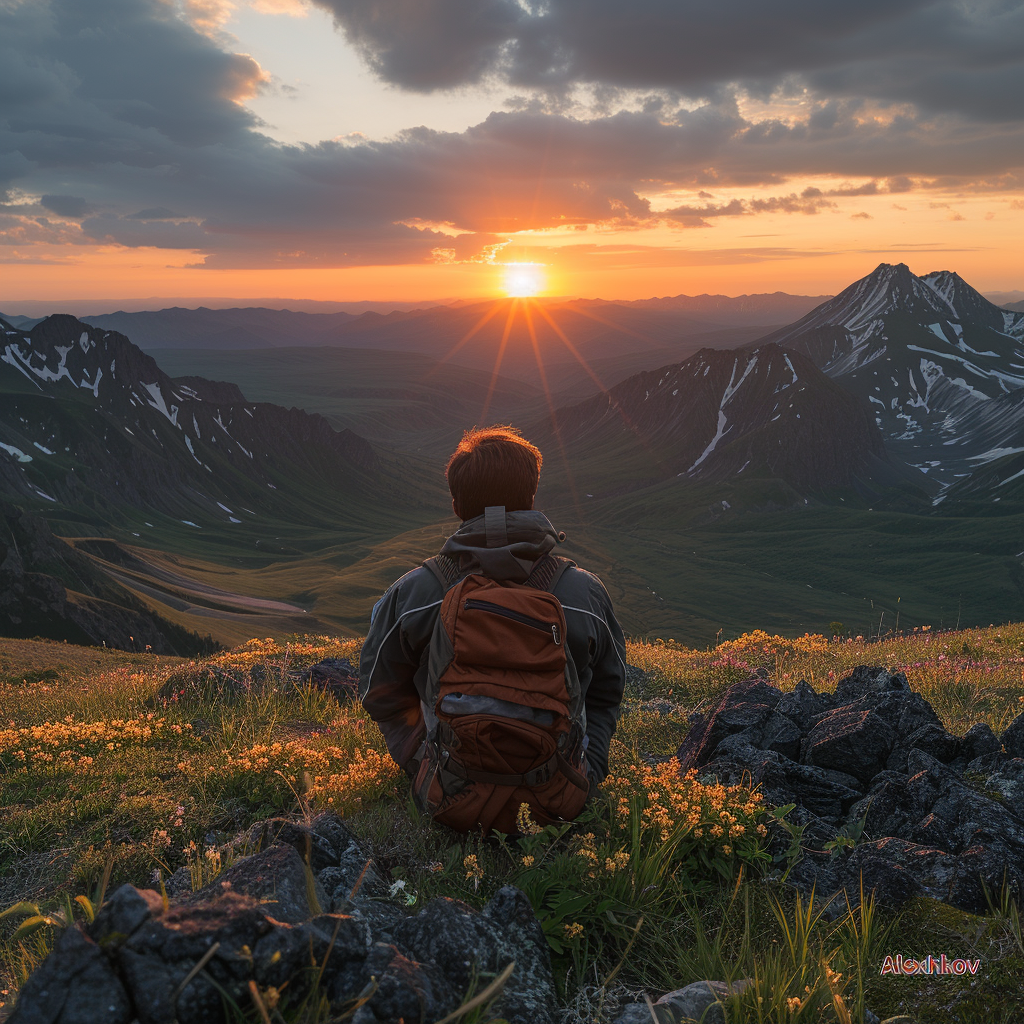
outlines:
[{"label": "tallest snow-streaked mountain with twin peaks at the right edge", "polygon": [[765,342],[805,353],[871,402],[889,451],[943,489],[1024,451],[1024,313],[956,273],[883,263]]}]

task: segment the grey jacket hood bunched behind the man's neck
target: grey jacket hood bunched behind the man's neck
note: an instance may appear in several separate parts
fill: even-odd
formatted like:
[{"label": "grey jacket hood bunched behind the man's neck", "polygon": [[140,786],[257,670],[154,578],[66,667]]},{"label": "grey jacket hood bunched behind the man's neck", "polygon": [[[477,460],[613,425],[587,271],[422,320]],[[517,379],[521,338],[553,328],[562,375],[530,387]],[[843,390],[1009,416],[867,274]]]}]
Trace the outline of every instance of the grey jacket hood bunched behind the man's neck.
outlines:
[{"label": "grey jacket hood bunched behind the man's neck", "polygon": [[506,512],[494,506],[467,519],[441,548],[463,572],[523,583],[534,563],[565,540],[543,512]]}]

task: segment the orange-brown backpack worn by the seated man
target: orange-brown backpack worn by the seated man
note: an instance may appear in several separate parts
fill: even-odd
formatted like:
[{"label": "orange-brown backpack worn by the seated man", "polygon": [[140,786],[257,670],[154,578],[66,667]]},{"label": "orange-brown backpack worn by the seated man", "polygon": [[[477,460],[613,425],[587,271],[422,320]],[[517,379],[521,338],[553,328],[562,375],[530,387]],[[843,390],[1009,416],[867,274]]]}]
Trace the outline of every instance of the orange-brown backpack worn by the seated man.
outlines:
[{"label": "orange-brown backpack worn by the seated man", "polygon": [[520,804],[540,824],[583,810],[586,711],[551,593],[572,564],[545,555],[517,584],[462,575],[444,555],[424,562],[445,594],[427,655],[436,726],[413,792],[435,821],[510,835]]}]

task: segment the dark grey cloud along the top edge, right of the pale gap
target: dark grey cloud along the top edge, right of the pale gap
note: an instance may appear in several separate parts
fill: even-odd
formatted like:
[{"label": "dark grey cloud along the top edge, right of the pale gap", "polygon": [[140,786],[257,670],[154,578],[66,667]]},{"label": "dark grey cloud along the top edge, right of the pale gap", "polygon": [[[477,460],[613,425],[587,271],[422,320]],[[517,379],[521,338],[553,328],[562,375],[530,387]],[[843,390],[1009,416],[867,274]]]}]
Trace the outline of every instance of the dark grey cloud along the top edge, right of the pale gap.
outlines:
[{"label": "dark grey cloud along the top edge, right of the pale gap", "polygon": [[[1024,114],[1019,0],[313,0],[387,81],[446,89],[487,75],[714,96],[910,102],[977,119]],[[825,114],[825,116],[827,116]]]}]

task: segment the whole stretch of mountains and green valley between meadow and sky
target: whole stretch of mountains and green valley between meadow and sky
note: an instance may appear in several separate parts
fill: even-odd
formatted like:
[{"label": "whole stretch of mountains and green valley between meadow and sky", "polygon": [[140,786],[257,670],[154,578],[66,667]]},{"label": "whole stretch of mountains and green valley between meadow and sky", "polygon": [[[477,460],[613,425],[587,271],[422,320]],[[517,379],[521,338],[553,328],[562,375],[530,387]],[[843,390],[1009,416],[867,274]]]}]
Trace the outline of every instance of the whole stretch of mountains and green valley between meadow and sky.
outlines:
[{"label": "whole stretch of mountains and green valley between meadow and sky", "polygon": [[[153,354],[102,317],[0,321],[0,498],[77,538],[71,555],[46,540],[33,561],[12,536],[0,571],[26,595],[35,577],[52,577],[39,593],[62,588],[52,616],[69,639],[98,635],[106,605],[96,601],[121,609],[108,608],[120,624],[112,638],[163,629],[165,649],[200,643],[191,631],[214,621],[237,642],[271,612],[279,632],[317,628],[309,611],[364,628],[367,602],[439,546],[442,460],[460,431],[498,419],[541,444],[541,500],[580,527],[585,558],[613,572],[631,628],[671,606],[714,636],[735,588],[760,608],[757,587],[786,572],[800,577],[788,600],[811,609],[796,623],[828,602],[820,614],[859,614],[856,559],[824,603],[811,594],[850,530],[872,587],[888,586],[887,559],[900,552],[904,593],[916,587],[939,617],[949,587],[986,622],[1024,601],[1024,311],[994,306],[951,271],[915,276],[903,264],[801,306],[784,328],[716,325],[720,298],[116,314],[151,317],[195,346]],[[726,305],[739,321],[791,300]],[[307,335],[289,335],[300,323]],[[273,347],[204,348],[215,329],[225,345],[225,332],[241,343],[259,329]],[[32,522],[23,526],[41,536]],[[757,542],[769,522],[777,559]],[[707,566],[698,535],[717,552]],[[970,564],[956,560],[965,543],[978,548]],[[683,557],[718,611],[684,600],[673,569]],[[981,564],[994,567],[994,589],[977,578]],[[147,606],[165,618],[140,622]],[[185,632],[172,638],[168,618]]]}]

